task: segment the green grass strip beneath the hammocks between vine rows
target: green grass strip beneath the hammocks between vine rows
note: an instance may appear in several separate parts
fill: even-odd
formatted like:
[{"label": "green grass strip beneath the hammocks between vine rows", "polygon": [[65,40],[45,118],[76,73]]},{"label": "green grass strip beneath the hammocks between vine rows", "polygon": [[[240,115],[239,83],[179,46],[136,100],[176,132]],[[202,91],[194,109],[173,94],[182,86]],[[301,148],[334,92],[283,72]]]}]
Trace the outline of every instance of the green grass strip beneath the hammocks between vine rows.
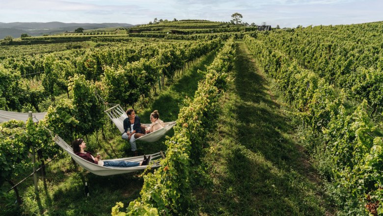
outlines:
[{"label": "green grass strip beneath the hammocks between vine rows", "polygon": [[[184,71],[184,74],[175,79],[171,85],[165,86],[159,95],[148,102],[136,105],[137,114],[143,123],[149,123],[150,113],[158,109],[164,121],[177,119],[179,109],[183,106],[185,97],[193,97],[197,83],[203,78],[196,73],[197,69],[203,70],[204,65],[209,65],[215,52],[203,57],[200,62]],[[120,138],[120,133],[110,122],[104,126],[107,137],[103,139],[101,131],[88,136],[87,146],[91,152],[101,152],[103,159],[130,156],[129,142]],[[167,135],[172,135],[170,131]],[[140,155],[151,154],[166,150],[163,137],[158,142],[146,143],[137,141]],[[7,200],[0,201],[0,215],[59,215],[59,216],[107,216],[116,202],[125,205],[139,196],[143,180],[138,175],[141,172],[113,176],[96,176],[74,165],[68,154],[63,153],[47,167],[47,188],[44,189],[39,181],[39,194],[34,194],[33,180],[29,178],[20,187],[20,195],[24,204],[19,208],[10,205],[9,200],[14,200],[11,191]],[[90,197],[84,196],[84,182],[87,182]],[[9,188],[4,184],[4,189]],[[12,198],[13,197],[13,198]],[[7,207],[7,208],[3,208]]]}]

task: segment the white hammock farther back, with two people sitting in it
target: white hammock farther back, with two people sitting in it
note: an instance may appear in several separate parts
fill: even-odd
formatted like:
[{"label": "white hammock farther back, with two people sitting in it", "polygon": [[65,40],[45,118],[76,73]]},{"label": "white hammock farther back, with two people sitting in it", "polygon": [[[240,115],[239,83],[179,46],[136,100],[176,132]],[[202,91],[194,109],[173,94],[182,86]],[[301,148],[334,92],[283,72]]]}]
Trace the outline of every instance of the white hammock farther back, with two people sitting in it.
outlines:
[{"label": "white hammock farther back, with two people sitting in it", "polygon": [[[118,130],[122,133],[124,133],[124,119],[128,118],[128,115],[126,112],[120,107],[120,105],[116,105],[112,108],[109,108],[105,110],[105,112],[108,114],[109,118],[113,121],[113,123],[117,126]],[[158,141],[162,136],[166,134],[173,126],[176,124],[176,122],[164,122],[165,127],[149,133],[147,135],[143,135],[141,137],[138,137],[136,140],[141,140],[145,142],[155,142]],[[143,126],[149,127],[150,124],[141,124]]]}]

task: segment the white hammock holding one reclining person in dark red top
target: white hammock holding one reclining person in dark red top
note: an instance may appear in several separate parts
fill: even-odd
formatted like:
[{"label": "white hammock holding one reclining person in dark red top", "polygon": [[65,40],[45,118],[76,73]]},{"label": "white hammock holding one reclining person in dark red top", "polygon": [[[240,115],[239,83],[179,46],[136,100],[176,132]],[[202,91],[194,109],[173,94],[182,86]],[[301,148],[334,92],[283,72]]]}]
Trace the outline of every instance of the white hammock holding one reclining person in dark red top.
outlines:
[{"label": "white hammock holding one reclining person in dark red top", "polygon": [[[55,136],[53,139],[57,145],[59,145],[62,149],[64,149],[68,154],[75,160],[77,164],[79,164],[82,168],[88,170],[89,172],[100,175],[100,176],[109,176],[109,175],[117,175],[117,174],[123,174],[123,173],[129,173],[134,172],[137,170],[146,169],[146,165],[144,166],[133,166],[133,167],[107,167],[107,166],[100,166],[95,163],[86,161],[82,159],[80,156],[76,155],[73,152],[73,148],[68,145],[61,137],[58,135]],[[149,155],[147,155],[149,156]],[[150,155],[151,160],[155,158],[161,157],[161,153],[155,153]],[[118,158],[118,159],[111,159],[107,161],[127,161],[127,162],[142,162],[143,156],[138,157],[132,157],[132,158]],[[153,164],[152,167],[158,167],[160,165]]]}]

